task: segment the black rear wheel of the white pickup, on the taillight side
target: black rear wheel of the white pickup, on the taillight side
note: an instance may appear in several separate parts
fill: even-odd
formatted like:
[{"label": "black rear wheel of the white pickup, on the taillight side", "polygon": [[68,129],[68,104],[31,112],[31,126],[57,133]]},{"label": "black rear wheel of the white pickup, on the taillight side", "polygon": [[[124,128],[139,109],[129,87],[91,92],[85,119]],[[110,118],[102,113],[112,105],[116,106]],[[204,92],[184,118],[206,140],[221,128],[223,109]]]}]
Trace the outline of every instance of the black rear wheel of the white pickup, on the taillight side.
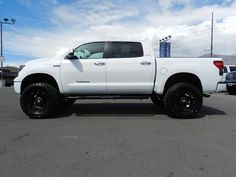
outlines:
[{"label": "black rear wheel of the white pickup, on the taillight side", "polygon": [[193,118],[202,107],[201,91],[189,83],[177,83],[166,92],[164,104],[168,114],[176,118]]}]

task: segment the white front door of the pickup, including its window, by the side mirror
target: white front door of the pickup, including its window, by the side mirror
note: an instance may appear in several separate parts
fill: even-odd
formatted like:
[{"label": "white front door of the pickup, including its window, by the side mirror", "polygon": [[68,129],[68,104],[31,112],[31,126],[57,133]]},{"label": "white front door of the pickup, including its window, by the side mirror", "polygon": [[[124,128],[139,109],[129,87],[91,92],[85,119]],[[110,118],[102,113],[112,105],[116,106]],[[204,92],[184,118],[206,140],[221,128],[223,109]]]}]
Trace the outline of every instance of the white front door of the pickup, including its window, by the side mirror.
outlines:
[{"label": "white front door of the pickup, including its window, by the side mirror", "polygon": [[87,43],[74,50],[78,59],[63,59],[61,81],[65,93],[106,94],[105,42]]}]

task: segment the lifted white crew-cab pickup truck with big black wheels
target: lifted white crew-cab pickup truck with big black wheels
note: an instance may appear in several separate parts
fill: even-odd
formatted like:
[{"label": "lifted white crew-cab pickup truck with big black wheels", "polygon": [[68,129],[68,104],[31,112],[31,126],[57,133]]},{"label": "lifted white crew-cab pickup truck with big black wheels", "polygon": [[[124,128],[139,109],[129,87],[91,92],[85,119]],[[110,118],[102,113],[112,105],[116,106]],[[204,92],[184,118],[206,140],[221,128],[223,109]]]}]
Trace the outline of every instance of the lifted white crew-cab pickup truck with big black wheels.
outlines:
[{"label": "lifted white crew-cab pickup truck with big black wheels", "polygon": [[30,118],[49,117],[82,98],[151,98],[171,117],[192,118],[203,96],[217,90],[223,68],[219,58],[155,58],[145,41],[90,42],[27,62],[14,88]]}]

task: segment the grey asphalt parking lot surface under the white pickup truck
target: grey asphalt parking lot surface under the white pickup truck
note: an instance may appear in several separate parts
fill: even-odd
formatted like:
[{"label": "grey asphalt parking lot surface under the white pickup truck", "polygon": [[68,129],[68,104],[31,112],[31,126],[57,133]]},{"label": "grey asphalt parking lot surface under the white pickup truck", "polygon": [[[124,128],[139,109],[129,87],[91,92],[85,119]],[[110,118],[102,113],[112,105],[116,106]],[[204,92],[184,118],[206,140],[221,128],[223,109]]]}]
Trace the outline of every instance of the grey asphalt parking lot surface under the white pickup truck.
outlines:
[{"label": "grey asphalt parking lot surface under the white pickup truck", "polygon": [[29,119],[0,89],[1,177],[235,177],[236,96],[204,99],[196,119],[149,100],[78,100]]}]

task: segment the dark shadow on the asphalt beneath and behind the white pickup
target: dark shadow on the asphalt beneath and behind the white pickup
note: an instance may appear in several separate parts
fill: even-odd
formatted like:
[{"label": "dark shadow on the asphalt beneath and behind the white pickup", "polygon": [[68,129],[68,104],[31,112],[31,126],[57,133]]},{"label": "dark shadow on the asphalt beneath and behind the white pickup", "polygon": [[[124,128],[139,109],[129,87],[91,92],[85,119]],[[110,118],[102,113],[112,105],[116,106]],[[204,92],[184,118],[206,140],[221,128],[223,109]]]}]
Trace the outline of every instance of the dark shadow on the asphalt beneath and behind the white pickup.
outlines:
[{"label": "dark shadow on the asphalt beneath and behind the white pickup", "polygon": [[[157,107],[152,103],[79,103],[74,104],[71,107],[61,109],[52,118],[63,118],[74,114],[79,117],[167,116],[167,112],[164,108]],[[226,113],[219,109],[203,106],[201,112],[194,119],[204,118],[209,115],[226,115]]]}]

